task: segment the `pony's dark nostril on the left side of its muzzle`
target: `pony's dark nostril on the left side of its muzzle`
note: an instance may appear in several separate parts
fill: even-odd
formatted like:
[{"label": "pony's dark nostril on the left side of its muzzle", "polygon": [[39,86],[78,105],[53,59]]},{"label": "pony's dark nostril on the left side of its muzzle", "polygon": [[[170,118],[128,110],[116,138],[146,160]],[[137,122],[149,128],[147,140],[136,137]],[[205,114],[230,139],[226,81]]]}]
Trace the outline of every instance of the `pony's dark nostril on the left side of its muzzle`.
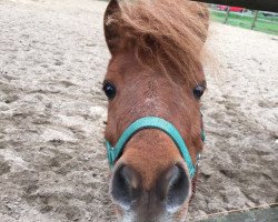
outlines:
[{"label": "pony's dark nostril on the left side of its muzzle", "polygon": [[140,176],[127,165],[118,167],[112,175],[111,195],[125,209],[130,209],[131,203],[139,196]]}]

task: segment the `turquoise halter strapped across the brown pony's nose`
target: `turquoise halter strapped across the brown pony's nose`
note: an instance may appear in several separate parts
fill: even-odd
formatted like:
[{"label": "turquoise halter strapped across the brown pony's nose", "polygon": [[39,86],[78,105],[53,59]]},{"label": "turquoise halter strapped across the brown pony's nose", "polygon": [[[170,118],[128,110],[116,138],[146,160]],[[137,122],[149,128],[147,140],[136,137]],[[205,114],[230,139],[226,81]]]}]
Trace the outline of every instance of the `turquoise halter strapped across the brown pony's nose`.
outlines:
[{"label": "turquoise halter strapped across the brown pony's nose", "polygon": [[[127,142],[135,135],[138,131],[143,130],[143,129],[159,129],[167,133],[177,148],[179,149],[182,158],[185,159],[187,167],[189,169],[190,176],[193,178],[196,168],[191,161],[191,158],[188,152],[188,148],[180,135],[179,131],[175,128],[173,124],[170,122],[157,118],[157,117],[145,117],[141,119],[136,120],[132,122],[121,134],[120,139],[116,143],[115,148],[111,145],[109,141],[106,141],[106,147],[107,147],[107,158],[109,161],[109,165],[112,169],[115,165],[115,161],[119,158],[121,154],[125,145]],[[201,140],[205,141],[205,133],[201,130]],[[199,157],[199,155],[198,155]]]}]

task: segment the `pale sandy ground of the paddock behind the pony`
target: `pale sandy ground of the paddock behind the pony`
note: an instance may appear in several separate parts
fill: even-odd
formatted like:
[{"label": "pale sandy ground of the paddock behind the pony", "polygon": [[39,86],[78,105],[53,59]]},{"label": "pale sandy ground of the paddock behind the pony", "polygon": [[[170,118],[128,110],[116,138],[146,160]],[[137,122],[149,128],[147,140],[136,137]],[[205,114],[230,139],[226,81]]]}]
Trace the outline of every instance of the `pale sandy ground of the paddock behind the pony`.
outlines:
[{"label": "pale sandy ground of the paddock behind the pony", "polygon": [[[115,221],[102,145],[106,2],[0,1],[0,221]],[[190,216],[278,202],[278,37],[212,26]],[[195,219],[197,220],[197,219]]]}]

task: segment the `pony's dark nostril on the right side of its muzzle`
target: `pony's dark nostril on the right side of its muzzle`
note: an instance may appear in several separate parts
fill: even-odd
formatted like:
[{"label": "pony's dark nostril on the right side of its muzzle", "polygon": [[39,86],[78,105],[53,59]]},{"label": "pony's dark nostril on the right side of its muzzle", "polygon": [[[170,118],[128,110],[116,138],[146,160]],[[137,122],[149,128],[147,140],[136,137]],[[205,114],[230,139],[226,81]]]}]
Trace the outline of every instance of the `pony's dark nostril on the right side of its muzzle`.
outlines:
[{"label": "pony's dark nostril on the right side of its muzzle", "polygon": [[160,188],[165,194],[167,210],[176,211],[189,195],[190,181],[185,169],[179,164],[170,168],[162,175]]}]

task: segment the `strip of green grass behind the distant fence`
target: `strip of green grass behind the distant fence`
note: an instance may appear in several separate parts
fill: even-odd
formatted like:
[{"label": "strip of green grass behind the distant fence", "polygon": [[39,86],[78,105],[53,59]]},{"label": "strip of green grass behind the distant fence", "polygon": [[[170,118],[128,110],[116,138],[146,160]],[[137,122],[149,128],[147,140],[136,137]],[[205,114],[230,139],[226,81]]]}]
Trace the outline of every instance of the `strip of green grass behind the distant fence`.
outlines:
[{"label": "strip of green grass behind the distant fence", "polygon": [[[210,11],[210,16],[214,21],[224,22],[226,18],[226,12],[222,13],[220,11]],[[254,14],[248,14],[248,17],[245,17],[240,13],[230,12],[227,24],[250,29],[252,20]],[[265,17],[260,12],[258,14],[258,19],[256,21],[254,30],[278,36],[278,17]]]}]

